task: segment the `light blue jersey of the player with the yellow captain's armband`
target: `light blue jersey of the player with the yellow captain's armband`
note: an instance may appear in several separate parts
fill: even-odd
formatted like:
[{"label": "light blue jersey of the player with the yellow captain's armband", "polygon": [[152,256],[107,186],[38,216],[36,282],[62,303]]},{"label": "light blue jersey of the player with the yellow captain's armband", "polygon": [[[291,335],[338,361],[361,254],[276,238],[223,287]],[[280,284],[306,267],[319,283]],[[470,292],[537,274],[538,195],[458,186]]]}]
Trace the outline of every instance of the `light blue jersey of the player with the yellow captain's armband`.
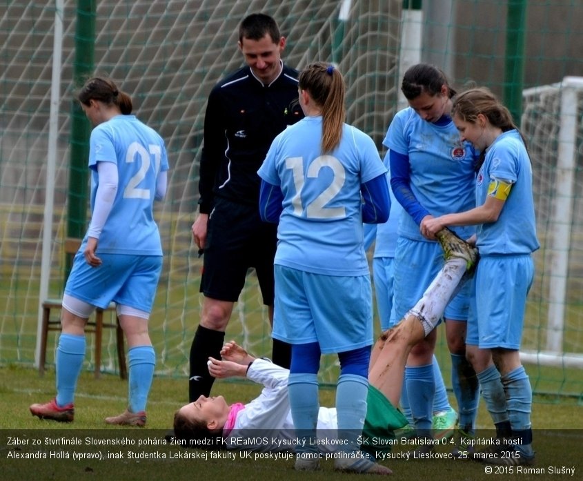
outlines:
[{"label": "light blue jersey of the player with the yellow captain's armband", "polygon": [[497,137],[486,151],[476,179],[476,205],[486,202],[492,180],[512,184],[496,222],[477,226],[480,255],[530,254],[540,247],[536,236],[531,159],[517,130]]}]

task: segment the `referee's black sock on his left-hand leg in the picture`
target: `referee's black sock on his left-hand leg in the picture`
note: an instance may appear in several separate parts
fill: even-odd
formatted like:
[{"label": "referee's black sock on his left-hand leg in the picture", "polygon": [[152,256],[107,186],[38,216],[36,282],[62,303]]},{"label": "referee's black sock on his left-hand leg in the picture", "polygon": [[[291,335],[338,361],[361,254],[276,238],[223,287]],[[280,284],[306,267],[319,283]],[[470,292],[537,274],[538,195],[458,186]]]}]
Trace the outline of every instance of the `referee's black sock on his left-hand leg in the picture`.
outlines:
[{"label": "referee's black sock on his left-hand leg in the picture", "polygon": [[225,333],[198,326],[190,346],[190,377],[188,378],[188,400],[196,401],[199,396],[210,394],[215,378],[208,373],[208,357],[221,359],[221,348]]}]

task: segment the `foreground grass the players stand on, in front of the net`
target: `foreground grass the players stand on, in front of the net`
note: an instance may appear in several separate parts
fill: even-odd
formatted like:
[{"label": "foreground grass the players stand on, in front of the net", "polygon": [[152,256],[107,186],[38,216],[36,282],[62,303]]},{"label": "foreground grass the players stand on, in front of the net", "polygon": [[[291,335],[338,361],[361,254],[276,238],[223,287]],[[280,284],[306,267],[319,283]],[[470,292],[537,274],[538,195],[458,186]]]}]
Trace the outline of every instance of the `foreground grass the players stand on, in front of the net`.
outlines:
[{"label": "foreground grass the players stand on, in front of the net", "polygon": [[[259,393],[259,386],[250,382],[229,382],[219,380],[213,392],[224,394],[229,402],[241,400],[246,402]],[[177,446],[155,444],[153,446],[94,446],[86,440],[134,440],[135,442],[162,442],[170,428],[175,409],[186,402],[186,382],[168,377],[156,377],[148,402],[148,425],[146,429],[123,429],[118,426],[106,426],[103,418],[117,414],[126,406],[127,383],[114,375],[103,375],[100,379],[92,373],[83,372],[79,379],[75,400],[76,417],[72,424],[59,424],[41,421],[32,417],[28,411],[29,404],[49,400],[55,393],[55,375],[52,370],[39,377],[37,371],[19,366],[0,368],[0,479],[16,480],[124,480],[146,481],[160,478],[170,480],[230,479],[241,480],[324,480],[333,474],[332,464],[324,462],[323,470],[317,473],[297,473],[293,471],[291,460],[255,460],[242,458],[237,453],[232,459],[211,459],[209,451],[193,451]],[[322,389],[321,404],[331,406],[334,403],[333,389]],[[453,400],[452,400],[453,401]],[[548,404],[545,397],[537,396],[533,405],[533,426],[535,427],[535,449],[537,464],[544,468],[544,473],[518,473],[514,475],[526,480],[562,480],[581,479],[583,459],[580,446],[583,442],[583,420],[581,406],[575,402],[560,405]],[[491,420],[480,405],[478,428],[487,430]],[[491,435],[484,431],[483,435]],[[482,436],[482,434],[480,434]],[[38,445],[8,444],[8,438],[19,440],[39,440]],[[61,438],[80,440],[82,447],[54,446],[49,444]],[[395,446],[395,452],[403,451],[404,446]],[[157,459],[128,459],[128,452],[152,453]],[[438,446],[437,452],[448,453],[451,446]],[[56,453],[69,458],[55,459],[17,459],[14,453]],[[125,459],[73,459],[73,452],[101,453],[119,455]],[[9,453],[12,453],[9,457]],[[206,459],[179,458],[184,453],[206,455]],[[165,456],[163,458],[162,456]],[[432,481],[439,480],[480,480],[488,474],[485,466],[469,461],[456,460],[390,460],[383,462],[394,471],[393,479],[411,480],[426,478],[431,474]],[[575,467],[575,476],[549,473],[549,467]],[[506,468],[508,470],[508,468]],[[506,471],[506,475],[512,474]],[[340,479],[357,478],[357,475],[343,474]]]}]

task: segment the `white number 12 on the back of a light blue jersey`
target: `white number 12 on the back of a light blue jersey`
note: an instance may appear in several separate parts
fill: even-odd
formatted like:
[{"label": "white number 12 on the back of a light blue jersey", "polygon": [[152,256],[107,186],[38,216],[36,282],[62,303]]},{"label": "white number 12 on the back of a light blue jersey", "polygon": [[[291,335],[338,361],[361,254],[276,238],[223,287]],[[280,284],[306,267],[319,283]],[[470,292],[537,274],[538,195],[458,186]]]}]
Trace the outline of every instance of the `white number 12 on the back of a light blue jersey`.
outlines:
[{"label": "white number 12 on the back of a light blue jersey", "polygon": [[[326,205],[340,192],[346,181],[346,170],[344,170],[342,163],[332,155],[320,155],[308,166],[306,177],[318,177],[319,171],[324,167],[332,169],[334,178],[322,193],[305,206],[306,217],[312,219],[335,219],[346,217],[346,208],[326,207]],[[290,169],[293,173],[293,184],[295,186],[295,195],[292,199],[293,212],[297,216],[302,216],[304,213],[302,188],[304,188],[304,182],[306,181],[306,177],[304,177],[304,162],[302,157],[288,157],[286,159],[286,168]]]}]

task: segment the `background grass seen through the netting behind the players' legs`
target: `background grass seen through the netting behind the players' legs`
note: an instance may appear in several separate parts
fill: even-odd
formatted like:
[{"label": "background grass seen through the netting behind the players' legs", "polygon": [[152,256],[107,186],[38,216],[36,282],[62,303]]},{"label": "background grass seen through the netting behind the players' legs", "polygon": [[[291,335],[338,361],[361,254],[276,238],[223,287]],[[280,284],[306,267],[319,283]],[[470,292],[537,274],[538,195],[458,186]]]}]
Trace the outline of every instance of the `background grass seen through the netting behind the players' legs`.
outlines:
[{"label": "background grass seen through the netting behind the players' legs", "polygon": [[[248,285],[241,300],[235,304],[235,311],[230,320],[227,337],[235,339],[257,355],[270,355],[270,328],[267,322],[266,309],[261,305],[253,275],[249,276]],[[157,374],[168,377],[182,377],[188,373],[188,352],[192,335],[199,320],[200,295],[198,282],[191,282],[170,288],[161,285],[154,311],[150,319],[150,337],[157,353]],[[27,302],[18,302],[15,293],[28,293]],[[52,292],[58,292],[53,286]],[[26,283],[23,280],[0,279],[0,297],[6,299],[6,306],[0,309],[0,364],[19,364],[32,366],[34,363],[34,348],[37,340],[38,318],[38,282]],[[534,296],[531,296],[534,297]],[[546,306],[533,298],[527,306],[524,328],[525,349],[537,349],[544,346],[544,315]],[[58,316],[58,311],[55,316]],[[577,346],[582,351],[583,341],[581,320],[583,308],[570,308],[566,312],[564,333],[565,346]],[[375,326],[378,326],[375,320]],[[445,346],[444,329],[439,329],[437,357],[444,371],[446,384],[450,376],[446,373],[451,364]],[[49,333],[47,363],[53,362],[58,335]],[[92,335],[88,336],[88,356],[86,369],[92,369]],[[575,351],[575,352],[578,352]],[[115,372],[116,365],[115,333],[105,330],[103,333],[102,371]],[[555,402],[563,402],[566,397],[574,397],[583,404],[583,369],[567,367],[528,366],[528,374],[536,393],[556,395]],[[324,357],[322,362],[321,380],[334,382],[337,377],[337,362],[334,356]],[[565,397],[566,395],[566,397]]]}]

